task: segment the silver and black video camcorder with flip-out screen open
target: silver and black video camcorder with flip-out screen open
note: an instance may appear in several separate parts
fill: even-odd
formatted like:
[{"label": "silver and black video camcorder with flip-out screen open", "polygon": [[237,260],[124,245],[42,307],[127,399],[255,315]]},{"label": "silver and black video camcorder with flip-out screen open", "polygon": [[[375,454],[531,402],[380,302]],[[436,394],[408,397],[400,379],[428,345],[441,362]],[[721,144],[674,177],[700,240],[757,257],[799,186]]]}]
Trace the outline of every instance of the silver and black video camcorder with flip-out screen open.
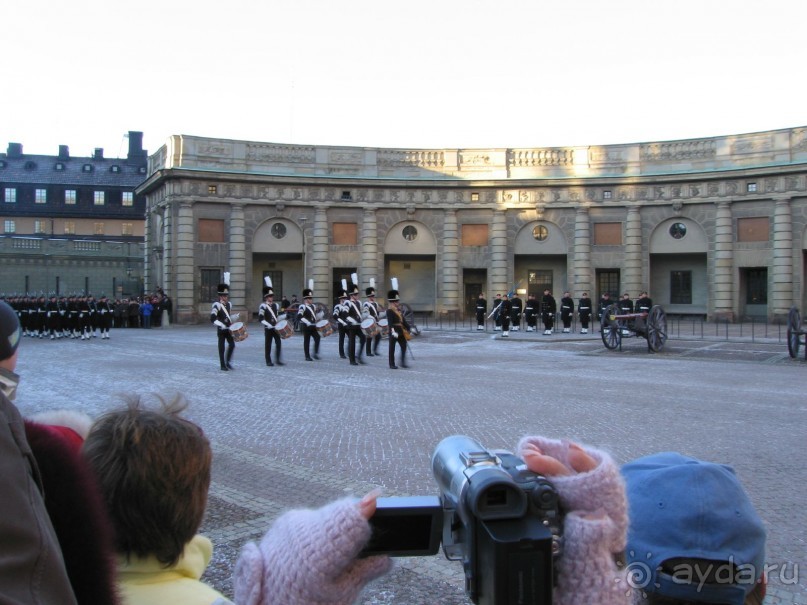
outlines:
[{"label": "silver and black video camcorder with flip-out screen open", "polygon": [[551,605],[563,529],[558,494],[510,452],[470,437],[441,441],[432,456],[440,496],[379,498],[365,556],[433,555],[462,561],[477,605]]}]

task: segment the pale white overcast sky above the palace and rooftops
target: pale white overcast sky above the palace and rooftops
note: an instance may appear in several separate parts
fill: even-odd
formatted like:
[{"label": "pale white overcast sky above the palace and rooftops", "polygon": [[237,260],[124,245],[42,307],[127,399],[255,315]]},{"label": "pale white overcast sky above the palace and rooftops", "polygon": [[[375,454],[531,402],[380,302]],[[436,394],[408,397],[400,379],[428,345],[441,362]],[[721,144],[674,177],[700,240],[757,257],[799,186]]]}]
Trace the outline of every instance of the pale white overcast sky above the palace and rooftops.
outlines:
[{"label": "pale white overcast sky above the palace and rooftops", "polygon": [[807,125],[803,0],[4,2],[0,151],[559,147]]}]

